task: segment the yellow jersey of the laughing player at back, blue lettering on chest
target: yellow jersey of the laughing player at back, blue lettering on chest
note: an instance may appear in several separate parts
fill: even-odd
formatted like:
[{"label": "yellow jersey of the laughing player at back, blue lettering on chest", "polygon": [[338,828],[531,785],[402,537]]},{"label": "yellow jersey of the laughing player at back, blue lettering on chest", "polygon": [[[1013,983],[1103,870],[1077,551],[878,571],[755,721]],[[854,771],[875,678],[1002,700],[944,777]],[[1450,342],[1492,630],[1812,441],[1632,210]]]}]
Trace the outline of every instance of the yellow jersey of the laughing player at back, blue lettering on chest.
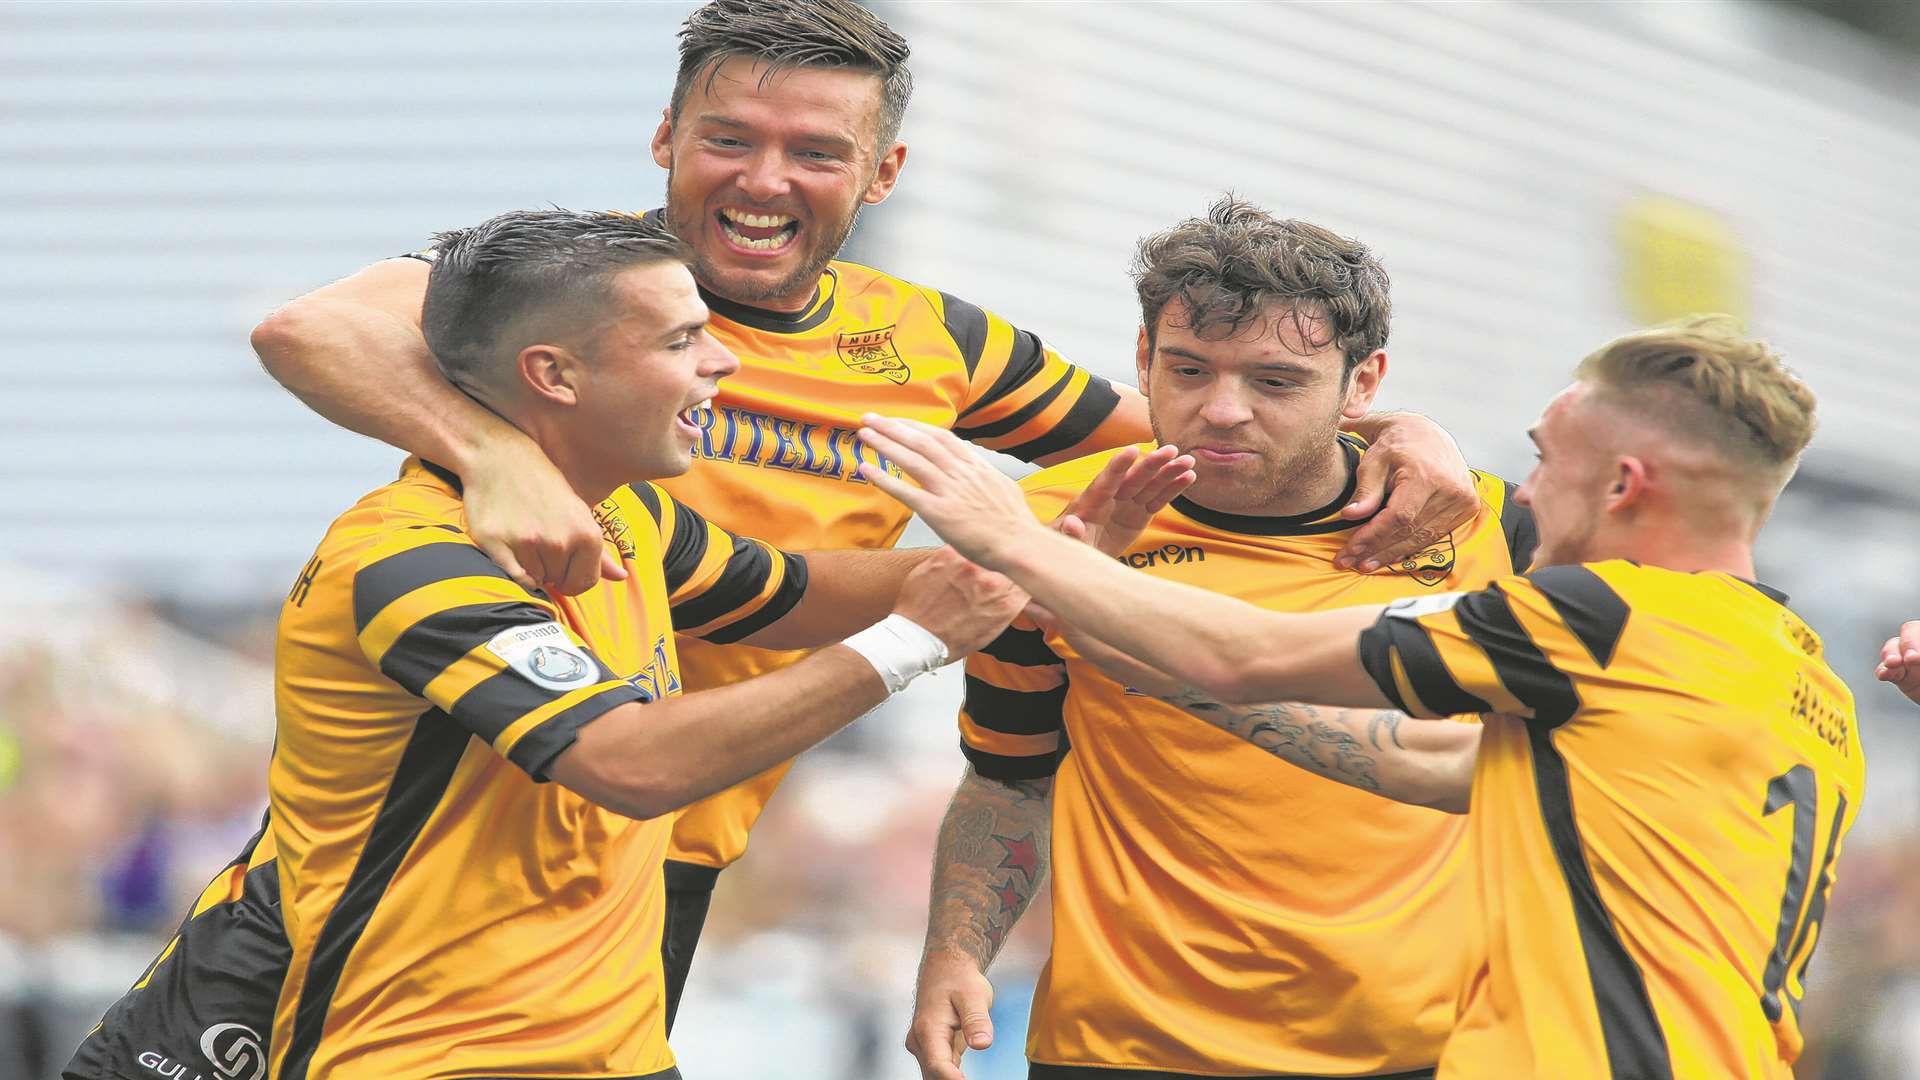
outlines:
[{"label": "yellow jersey of the laughing player at back, blue lettering on chest", "polygon": [[[657,213],[657,211],[653,211]],[[432,252],[419,258],[432,259]],[[1039,336],[958,296],[847,261],[828,263],[804,311],[735,304],[707,288],[708,332],[741,361],[720,382],[693,446],[693,469],[660,480],[716,525],[789,552],[891,548],[908,511],[854,471],[877,454],[860,415],[879,411],[952,429],[1023,461],[1106,450],[1119,396]],[[795,663],[801,651],[682,642],[687,684],[714,688]],[[672,857],[726,867],[787,765],[680,813]]]}]

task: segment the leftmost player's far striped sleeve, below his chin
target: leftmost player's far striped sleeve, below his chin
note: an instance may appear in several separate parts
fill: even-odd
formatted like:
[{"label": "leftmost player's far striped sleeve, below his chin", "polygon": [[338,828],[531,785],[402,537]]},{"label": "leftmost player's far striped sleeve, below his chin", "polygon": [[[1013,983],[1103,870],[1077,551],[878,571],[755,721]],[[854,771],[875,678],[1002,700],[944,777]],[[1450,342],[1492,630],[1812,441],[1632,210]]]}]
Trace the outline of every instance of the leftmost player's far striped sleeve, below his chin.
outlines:
[{"label": "leftmost player's far striped sleeve, below his chin", "polygon": [[806,559],[735,536],[653,484],[634,494],[660,528],[660,565],[674,630],[716,644],[755,634],[806,594]]}]

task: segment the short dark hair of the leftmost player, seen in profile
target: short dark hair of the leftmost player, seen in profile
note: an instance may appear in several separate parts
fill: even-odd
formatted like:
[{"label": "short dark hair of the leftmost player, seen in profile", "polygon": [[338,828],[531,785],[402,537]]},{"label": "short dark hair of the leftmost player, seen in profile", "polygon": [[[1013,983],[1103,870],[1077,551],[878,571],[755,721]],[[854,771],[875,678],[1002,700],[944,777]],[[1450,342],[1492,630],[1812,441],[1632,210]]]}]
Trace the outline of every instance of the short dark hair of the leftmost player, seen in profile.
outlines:
[{"label": "short dark hair of the leftmost player, seen in profile", "polygon": [[624,269],[693,259],[655,217],[578,209],[515,209],[434,236],[420,332],[455,386],[505,375],[509,357],[551,332],[543,315],[588,315],[611,300]]}]

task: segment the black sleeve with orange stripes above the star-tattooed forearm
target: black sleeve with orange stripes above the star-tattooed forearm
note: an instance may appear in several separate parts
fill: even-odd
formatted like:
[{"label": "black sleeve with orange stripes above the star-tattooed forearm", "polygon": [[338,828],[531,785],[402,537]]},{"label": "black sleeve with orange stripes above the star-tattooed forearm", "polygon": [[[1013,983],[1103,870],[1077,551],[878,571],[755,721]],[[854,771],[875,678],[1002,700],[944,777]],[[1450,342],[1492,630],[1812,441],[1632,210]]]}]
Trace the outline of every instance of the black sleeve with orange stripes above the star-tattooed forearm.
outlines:
[{"label": "black sleeve with orange stripes above the star-tattooed forearm", "polygon": [[1068,669],[1041,630],[1006,628],[966,661],[960,751],[989,780],[1039,780],[1066,749]]}]

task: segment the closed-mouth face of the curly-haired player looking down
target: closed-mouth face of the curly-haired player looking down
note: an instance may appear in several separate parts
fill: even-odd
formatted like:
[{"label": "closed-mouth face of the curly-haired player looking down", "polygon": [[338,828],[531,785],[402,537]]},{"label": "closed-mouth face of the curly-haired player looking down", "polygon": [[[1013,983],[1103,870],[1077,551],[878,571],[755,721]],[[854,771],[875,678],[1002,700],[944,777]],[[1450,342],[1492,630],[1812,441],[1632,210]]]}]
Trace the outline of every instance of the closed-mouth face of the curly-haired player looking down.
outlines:
[{"label": "closed-mouth face of the curly-haired player looking down", "polygon": [[1244,325],[1206,334],[1185,325],[1185,311],[1179,300],[1162,309],[1152,346],[1140,332],[1137,365],[1154,436],[1194,455],[1187,496],[1248,515],[1306,513],[1338,496],[1340,419],[1365,415],[1386,354],[1344,377],[1340,348],[1304,340],[1288,307],[1267,304]]}]

